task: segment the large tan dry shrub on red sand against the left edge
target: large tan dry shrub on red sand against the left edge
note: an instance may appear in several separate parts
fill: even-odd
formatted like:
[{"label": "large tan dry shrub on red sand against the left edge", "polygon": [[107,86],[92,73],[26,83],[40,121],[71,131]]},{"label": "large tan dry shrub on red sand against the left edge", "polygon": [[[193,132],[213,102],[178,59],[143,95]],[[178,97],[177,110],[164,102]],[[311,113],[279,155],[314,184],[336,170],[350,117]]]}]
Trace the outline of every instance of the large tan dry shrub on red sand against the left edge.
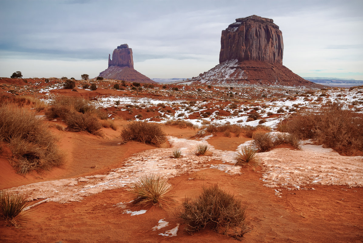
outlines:
[{"label": "large tan dry shrub on red sand against the left edge", "polygon": [[34,113],[15,105],[0,105],[0,140],[8,143],[20,174],[62,164],[64,156],[49,127]]}]

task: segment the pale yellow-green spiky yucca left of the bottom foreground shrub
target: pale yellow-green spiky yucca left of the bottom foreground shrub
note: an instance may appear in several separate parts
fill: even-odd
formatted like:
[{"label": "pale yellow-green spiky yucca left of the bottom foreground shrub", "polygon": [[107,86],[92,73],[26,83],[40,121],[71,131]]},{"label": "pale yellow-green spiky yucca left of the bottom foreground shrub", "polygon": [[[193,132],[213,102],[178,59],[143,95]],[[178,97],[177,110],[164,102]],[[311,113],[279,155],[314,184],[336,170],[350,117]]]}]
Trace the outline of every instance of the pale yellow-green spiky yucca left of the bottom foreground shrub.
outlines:
[{"label": "pale yellow-green spiky yucca left of the bottom foreground shrub", "polygon": [[174,195],[170,193],[171,187],[159,174],[139,177],[132,187],[134,190],[131,193],[135,196],[136,205],[152,204],[163,208],[164,205],[169,207],[175,203]]}]

